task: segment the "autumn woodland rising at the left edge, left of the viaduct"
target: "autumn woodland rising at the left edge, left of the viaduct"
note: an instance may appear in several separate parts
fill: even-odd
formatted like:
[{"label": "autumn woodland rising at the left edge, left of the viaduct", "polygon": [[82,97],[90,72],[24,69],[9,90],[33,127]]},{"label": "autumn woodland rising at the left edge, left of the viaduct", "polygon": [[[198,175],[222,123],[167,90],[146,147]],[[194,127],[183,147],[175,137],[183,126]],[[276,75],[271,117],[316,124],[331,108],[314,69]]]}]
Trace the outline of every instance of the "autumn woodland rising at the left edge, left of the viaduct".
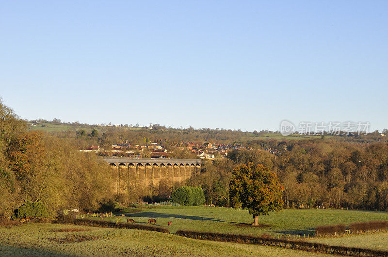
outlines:
[{"label": "autumn woodland rising at the left edge, left of the viaduct", "polygon": [[23,203],[96,210],[111,197],[111,177],[96,156],[83,154],[66,138],[28,131],[26,122],[0,100],[0,218]]}]

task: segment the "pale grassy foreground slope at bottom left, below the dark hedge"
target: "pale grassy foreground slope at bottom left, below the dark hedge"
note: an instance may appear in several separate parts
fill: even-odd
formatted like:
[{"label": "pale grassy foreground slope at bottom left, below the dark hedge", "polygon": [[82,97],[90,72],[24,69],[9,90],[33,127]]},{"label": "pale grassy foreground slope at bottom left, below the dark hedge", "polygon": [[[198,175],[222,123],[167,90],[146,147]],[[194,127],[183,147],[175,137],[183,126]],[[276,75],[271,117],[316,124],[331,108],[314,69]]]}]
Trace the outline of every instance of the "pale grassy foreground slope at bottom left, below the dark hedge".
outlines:
[{"label": "pale grassy foreground slope at bottom left, below the dark hedge", "polygon": [[[52,232],[52,229],[80,227],[56,224],[22,224],[0,227],[0,256],[300,256],[302,252],[278,247],[193,240],[172,234],[133,229],[90,227],[91,231]],[[87,227],[86,227],[87,228]],[[59,244],[49,238],[66,234],[93,235],[95,241]],[[303,252],[304,256],[319,256]]]}]

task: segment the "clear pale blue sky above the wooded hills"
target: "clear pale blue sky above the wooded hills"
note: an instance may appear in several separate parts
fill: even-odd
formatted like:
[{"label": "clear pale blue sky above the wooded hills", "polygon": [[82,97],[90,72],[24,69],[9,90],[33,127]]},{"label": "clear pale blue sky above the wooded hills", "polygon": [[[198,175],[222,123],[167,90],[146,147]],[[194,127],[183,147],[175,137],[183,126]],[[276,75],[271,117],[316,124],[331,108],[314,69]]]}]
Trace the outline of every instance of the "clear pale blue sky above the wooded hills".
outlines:
[{"label": "clear pale blue sky above the wooded hills", "polygon": [[23,119],[388,128],[388,1],[2,1],[0,95]]}]

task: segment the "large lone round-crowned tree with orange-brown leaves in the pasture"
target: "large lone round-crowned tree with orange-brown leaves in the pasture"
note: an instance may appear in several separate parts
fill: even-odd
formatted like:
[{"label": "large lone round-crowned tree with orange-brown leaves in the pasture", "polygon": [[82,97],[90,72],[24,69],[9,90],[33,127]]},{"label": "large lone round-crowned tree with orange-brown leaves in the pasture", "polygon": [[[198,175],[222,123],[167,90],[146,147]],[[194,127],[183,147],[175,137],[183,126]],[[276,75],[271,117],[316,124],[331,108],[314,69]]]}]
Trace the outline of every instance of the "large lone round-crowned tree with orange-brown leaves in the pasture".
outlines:
[{"label": "large lone round-crowned tree with orange-brown leaves in the pasture", "polygon": [[259,215],[278,212],[283,207],[283,187],[276,174],[261,164],[248,163],[234,169],[229,187],[234,206],[241,204],[253,215],[252,226],[259,225]]}]

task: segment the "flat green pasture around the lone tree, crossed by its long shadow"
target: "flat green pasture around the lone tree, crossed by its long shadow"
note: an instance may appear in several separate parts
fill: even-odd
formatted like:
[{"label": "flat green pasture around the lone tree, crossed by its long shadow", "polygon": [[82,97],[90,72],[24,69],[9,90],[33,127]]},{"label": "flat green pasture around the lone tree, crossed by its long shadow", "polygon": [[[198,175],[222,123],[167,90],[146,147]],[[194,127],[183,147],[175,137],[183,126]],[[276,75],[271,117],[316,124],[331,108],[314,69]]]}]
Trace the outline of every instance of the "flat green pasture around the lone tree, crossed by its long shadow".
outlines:
[{"label": "flat green pasture around the lone tree, crossed by its long shadow", "polygon": [[[212,231],[220,233],[261,235],[269,233],[274,237],[312,233],[315,227],[330,224],[350,224],[357,221],[388,220],[387,212],[347,211],[347,210],[283,210],[267,216],[260,216],[259,223],[272,227],[243,227],[239,223],[250,224],[253,218],[248,211],[220,207],[157,207],[143,212],[128,214],[137,223],[146,223],[155,218],[157,224],[167,226],[172,221],[172,233],[178,229]],[[125,218],[120,218],[126,222]],[[114,218],[112,218],[114,220]]]}]

